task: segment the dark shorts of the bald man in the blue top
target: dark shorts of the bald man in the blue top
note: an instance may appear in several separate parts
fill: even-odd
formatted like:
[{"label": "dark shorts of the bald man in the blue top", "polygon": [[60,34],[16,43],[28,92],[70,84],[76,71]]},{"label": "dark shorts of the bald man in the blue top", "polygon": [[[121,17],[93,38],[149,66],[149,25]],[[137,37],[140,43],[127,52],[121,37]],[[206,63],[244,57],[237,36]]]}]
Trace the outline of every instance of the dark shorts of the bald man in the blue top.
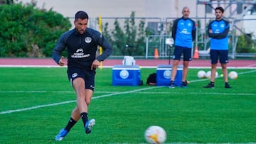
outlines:
[{"label": "dark shorts of the bald man in the blue top", "polygon": [[181,55],[183,54],[183,61],[191,61],[191,50],[191,48],[175,45],[173,60],[181,60]]}]

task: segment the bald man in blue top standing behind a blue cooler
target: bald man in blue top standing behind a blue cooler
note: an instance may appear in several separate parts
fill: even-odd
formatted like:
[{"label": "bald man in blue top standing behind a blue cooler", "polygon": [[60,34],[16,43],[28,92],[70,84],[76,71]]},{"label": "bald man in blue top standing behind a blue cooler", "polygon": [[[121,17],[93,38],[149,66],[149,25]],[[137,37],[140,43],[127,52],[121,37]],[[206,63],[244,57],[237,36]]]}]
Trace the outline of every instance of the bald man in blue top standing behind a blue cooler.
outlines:
[{"label": "bald man in blue top standing behind a blue cooler", "polygon": [[188,87],[188,82],[186,77],[188,74],[188,62],[191,61],[191,50],[193,40],[196,38],[196,23],[189,16],[189,9],[185,6],[182,9],[183,16],[177,18],[174,21],[174,26],[172,27],[171,35],[174,38],[174,57],[173,65],[171,69],[171,84],[169,88],[174,88],[174,79],[177,74],[178,62],[181,60],[181,55],[183,54],[183,72],[182,72],[182,83],[181,87]]}]

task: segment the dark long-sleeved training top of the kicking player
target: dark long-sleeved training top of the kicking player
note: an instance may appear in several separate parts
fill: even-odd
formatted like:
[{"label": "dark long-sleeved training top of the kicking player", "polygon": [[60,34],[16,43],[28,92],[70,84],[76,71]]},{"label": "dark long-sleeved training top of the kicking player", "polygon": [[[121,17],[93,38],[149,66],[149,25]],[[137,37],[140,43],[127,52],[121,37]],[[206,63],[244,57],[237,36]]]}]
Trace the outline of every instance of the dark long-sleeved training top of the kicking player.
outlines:
[{"label": "dark long-sleeved training top of the kicking player", "polygon": [[[97,47],[103,49],[102,55],[96,57]],[[112,53],[112,45],[107,42],[103,35],[92,28],[87,28],[85,33],[80,34],[74,28],[60,36],[58,43],[53,49],[53,60],[59,62],[63,50],[68,50],[68,67],[90,68],[92,62],[97,59],[105,60]]]}]

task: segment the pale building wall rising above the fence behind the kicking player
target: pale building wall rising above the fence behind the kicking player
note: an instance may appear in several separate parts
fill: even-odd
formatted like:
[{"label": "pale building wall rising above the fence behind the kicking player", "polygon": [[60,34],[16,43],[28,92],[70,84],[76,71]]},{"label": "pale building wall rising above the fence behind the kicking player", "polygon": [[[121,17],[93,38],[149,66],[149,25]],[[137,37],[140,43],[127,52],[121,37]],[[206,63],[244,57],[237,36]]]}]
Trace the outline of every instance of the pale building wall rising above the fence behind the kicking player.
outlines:
[{"label": "pale building wall rising above the fence behind the kicking player", "polygon": [[[18,0],[23,3],[31,0]],[[196,16],[196,0],[38,0],[39,8],[53,9],[63,16],[73,17],[77,11],[87,11],[90,17],[180,17],[183,6],[191,8]]]}]

